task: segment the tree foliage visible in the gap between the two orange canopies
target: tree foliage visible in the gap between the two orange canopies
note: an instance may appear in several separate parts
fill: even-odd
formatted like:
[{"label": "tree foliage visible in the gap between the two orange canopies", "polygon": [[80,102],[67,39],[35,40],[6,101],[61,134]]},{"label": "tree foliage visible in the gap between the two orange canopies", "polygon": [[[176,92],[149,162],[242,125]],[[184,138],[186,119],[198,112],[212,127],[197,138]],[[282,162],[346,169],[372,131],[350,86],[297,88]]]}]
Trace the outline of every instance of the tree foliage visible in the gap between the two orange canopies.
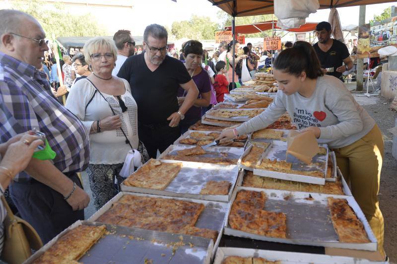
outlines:
[{"label": "tree foliage visible in the gap between the two orange canopies", "polygon": [[[218,10],[217,17],[222,22],[220,23],[219,30],[223,30],[225,27],[232,25],[232,16],[226,13],[223,10]],[[249,25],[253,23],[265,22],[269,20],[277,20],[277,17],[274,15],[254,15],[254,16],[238,16],[235,19],[235,25]],[[247,38],[263,38],[266,36],[271,36],[271,30],[266,30],[263,32],[246,34]]]}]

